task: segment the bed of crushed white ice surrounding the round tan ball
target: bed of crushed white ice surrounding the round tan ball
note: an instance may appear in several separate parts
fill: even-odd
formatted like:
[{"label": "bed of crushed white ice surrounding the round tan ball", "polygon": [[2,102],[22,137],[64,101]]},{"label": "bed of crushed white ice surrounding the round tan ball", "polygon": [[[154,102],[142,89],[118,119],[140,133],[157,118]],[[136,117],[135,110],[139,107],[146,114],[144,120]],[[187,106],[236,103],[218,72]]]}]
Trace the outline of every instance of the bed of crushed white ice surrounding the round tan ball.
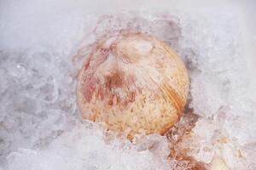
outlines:
[{"label": "bed of crushed white ice surrounding the round tan ball", "polygon": [[[255,55],[245,51],[235,9],[216,14],[148,4],[121,13],[103,2],[0,2],[3,169],[184,170],[210,168],[219,157],[231,169],[256,169],[256,82],[248,67]],[[191,82],[181,121],[164,137],[141,136],[132,144],[79,121],[75,86],[82,59],[73,58],[81,46],[127,28],[169,43]]]}]

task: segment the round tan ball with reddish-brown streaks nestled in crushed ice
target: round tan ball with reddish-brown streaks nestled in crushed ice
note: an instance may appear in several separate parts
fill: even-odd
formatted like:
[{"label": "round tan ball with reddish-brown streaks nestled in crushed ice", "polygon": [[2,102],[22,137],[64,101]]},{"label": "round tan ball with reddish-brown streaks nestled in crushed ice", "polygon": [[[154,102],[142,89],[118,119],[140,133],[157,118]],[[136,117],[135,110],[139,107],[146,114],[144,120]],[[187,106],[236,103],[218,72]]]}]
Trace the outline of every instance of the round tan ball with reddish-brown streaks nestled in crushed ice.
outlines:
[{"label": "round tan ball with reddish-brown streaks nestled in crushed ice", "polygon": [[84,119],[132,139],[164,134],[182,116],[189,77],[165,42],[142,33],[105,37],[84,57],[77,86]]}]

